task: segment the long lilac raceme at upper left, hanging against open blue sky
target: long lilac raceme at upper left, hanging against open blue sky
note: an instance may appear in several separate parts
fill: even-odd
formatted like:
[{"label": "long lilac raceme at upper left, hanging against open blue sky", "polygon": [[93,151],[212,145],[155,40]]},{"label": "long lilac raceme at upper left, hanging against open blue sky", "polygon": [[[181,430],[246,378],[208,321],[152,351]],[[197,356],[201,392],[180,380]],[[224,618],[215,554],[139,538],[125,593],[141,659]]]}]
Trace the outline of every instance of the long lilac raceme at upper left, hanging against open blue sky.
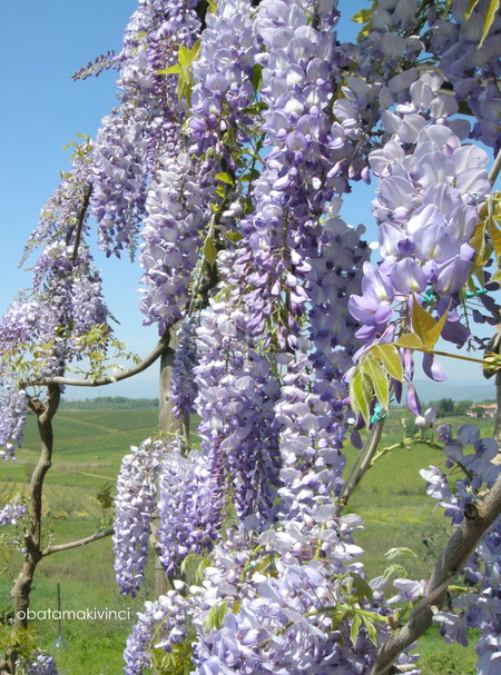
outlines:
[{"label": "long lilac raceme at upper left, hanging against open blue sky", "polygon": [[120,106],[105,118],[94,153],[90,207],[107,255],[135,248],[158,158],[181,149],[186,105],[178,101],[175,78],[158,71],[176,63],[179,46],[189,49],[196,41],[200,22],[195,4],[147,0],[126,29],[117,57]]}]

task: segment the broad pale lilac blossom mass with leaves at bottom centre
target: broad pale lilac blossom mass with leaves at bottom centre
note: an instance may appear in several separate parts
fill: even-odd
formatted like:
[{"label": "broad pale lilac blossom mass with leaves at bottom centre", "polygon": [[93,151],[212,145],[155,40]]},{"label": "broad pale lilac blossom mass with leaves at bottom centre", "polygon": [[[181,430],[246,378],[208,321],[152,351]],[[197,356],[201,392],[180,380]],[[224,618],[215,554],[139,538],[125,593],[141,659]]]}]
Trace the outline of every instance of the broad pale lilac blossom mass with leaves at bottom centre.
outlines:
[{"label": "broad pale lilac blossom mass with leaves at bottom centre", "polygon": [[[194,671],[200,675],[219,673],[277,673],[291,675],[326,672],[369,673],[376,646],[365,628],[351,639],[351,619],[337,616],[333,631],[332,611],[345,603],[341,580],[351,569],[363,574],[348,545],[346,533],[360,526],[360,518],[346,516],[337,523],[325,518],[320,529],[307,523],[283,522],[278,529],[264,532],[246,545],[237,537],[218,546],[213,565],[194,599]],[[255,546],[257,544],[257,546]],[[360,598],[360,609],[373,612],[377,639],[385,639],[383,616],[390,611],[374,592],[374,607]],[[227,607],[223,625],[204,628],[212,607]],[[355,609],[356,611],[356,609]],[[377,614],[382,621],[377,621]],[[403,654],[399,663],[411,663]],[[416,671],[418,673],[418,671]]]}]

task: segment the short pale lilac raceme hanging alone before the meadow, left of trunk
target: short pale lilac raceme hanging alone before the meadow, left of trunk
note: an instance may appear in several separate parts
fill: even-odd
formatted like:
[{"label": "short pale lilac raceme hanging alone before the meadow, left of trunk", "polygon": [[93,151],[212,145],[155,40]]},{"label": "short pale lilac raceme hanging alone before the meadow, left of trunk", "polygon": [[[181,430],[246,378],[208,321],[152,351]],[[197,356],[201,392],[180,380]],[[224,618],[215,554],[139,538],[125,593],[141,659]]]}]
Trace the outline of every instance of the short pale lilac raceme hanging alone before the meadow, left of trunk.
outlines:
[{"label": "short pale lilac raceme hanging alone before the meadow, left of trunk", "polygon": [[167,451],[161,440],[147,439],[122,459],[115,500],[115,572],[120,593],[136,595],[144,580],[157,479]]}]

